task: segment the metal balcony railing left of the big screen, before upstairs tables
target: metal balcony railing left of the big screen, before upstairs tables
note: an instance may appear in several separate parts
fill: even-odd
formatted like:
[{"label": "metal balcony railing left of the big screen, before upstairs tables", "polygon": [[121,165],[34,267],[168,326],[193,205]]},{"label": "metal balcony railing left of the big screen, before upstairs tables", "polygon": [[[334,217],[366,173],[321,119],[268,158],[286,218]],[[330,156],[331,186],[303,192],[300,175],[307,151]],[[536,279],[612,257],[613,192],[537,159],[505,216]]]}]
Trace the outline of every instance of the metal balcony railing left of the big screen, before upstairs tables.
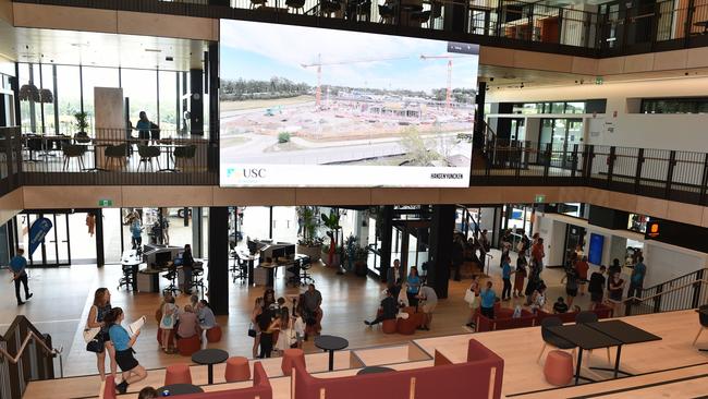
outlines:
[{"label": "metal balcony railing left of the big screen, before upstairs tables", "polygon": [[22,134],[19,144],[24,185],[218,184],[218,143],[175,131]]}]

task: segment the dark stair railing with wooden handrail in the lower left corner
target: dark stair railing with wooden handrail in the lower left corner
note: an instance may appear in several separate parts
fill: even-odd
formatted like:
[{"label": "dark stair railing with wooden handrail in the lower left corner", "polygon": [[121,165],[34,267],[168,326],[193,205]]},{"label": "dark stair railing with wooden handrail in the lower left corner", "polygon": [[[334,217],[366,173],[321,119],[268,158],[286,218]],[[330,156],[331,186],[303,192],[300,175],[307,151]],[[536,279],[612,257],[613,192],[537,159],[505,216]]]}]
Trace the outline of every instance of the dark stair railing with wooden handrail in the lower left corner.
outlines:
[{"label": "dark stair railing with wooden handrail in the lower left corner", "polygon": [[0,397],[20,399],[28,382],[53,379],[54,358],[59,356],[61,367],[61,352],[49,335],[39,332],[25,316],[16,316],[0,337]]}]

